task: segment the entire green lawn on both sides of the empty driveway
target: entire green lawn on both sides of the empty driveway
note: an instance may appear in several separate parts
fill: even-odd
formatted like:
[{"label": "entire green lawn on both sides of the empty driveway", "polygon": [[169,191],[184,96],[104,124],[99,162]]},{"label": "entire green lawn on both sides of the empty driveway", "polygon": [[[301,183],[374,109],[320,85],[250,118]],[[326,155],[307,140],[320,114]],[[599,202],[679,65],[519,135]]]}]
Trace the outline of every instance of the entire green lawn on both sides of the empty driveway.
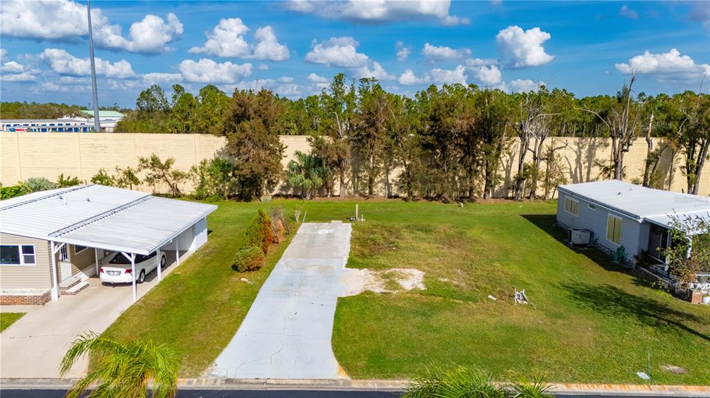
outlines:
[{"label": "entire green lawn on both sides of the empty driveway", "polygon": [[[640,382],[635,372],[646,369],[650,350],[654,382],[710,384],[710,308],[667,297],[595,250],[569,249],[553,225],[554,203],[359,203],[366,222],[354,226],[349,266],[417,268],[427,290],[339,300],[333,347],[351,377],[410,377],[438,361],[501,378],[541,370],[553,381]],[[293,215],[301,204],[218,203],[208,243],[104,336],[168,343],[180,376],[202,375],[286,247],[261,271],[236,273],[231,262],[246,223],[260,207],[284,205]],[[306,222],[344,220],[354,202],[317,200],[303,209]],[[513,288],[525,289],[533,305],[514,306]]]}]

